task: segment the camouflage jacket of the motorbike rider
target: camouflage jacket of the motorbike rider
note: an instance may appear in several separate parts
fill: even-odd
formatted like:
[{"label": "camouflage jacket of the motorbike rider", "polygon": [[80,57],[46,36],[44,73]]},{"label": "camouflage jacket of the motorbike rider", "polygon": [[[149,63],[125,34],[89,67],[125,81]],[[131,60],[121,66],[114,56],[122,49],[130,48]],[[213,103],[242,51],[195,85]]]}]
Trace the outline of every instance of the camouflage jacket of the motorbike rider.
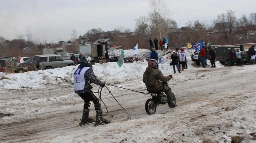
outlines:
[{"label": "camouflage jacket of the motorbike rider", "polygon": [[152,67],[147,67],[143,74],[143,82],[146,84],[147,89],[155,88],[158,91],[168,91],[171,88],[164,86],[162,82],[167,82],[169,80],[171,80],[171,77],[165,77],[161,70]]}]

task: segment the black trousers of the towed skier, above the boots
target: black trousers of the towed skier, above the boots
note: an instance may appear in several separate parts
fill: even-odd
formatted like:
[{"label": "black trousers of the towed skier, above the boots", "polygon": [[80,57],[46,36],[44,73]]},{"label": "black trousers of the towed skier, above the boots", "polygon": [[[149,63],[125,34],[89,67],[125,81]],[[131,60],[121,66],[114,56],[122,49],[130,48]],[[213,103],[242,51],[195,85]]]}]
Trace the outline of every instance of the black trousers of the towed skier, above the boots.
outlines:
[{"label": "black trousers of the towed skier, above the boots", "polygon": [[84,104],[84,109],[89,110],[90,107],[90,101],[94,103],[94,108],[95,110],[100,110],[100,105],[99,105],[99,98],[97,98],[92,91],[86,92],[83,94],[78,94],[82,99],[84,99],[85,104]]}]

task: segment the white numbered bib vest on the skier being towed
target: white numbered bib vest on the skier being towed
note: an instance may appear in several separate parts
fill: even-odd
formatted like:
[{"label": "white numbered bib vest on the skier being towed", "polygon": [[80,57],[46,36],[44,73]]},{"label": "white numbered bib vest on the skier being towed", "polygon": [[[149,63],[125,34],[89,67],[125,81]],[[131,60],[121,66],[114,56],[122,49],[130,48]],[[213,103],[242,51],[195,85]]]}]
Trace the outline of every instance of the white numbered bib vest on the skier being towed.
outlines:
[{"label": "white numbered bib vest on the skier being towed", "polygon": [[73,73],[74,78],[74,90],[79,91],[85,88],[85,72],[90,67],[77,68]]}]

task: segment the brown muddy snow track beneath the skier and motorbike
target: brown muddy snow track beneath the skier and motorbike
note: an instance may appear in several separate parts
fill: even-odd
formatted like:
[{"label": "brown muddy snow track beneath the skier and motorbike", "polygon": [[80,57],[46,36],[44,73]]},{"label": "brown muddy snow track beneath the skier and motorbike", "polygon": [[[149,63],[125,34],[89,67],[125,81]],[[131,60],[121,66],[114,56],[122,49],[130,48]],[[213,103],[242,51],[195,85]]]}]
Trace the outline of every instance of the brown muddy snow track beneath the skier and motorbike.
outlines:
[{"label": "brown muddy snow track beneath the skier and motorbike", "polygon": [[[190,74],[198,74],[198,70]],[[200,69],[200,75],[196,79],[187,81],[176,79],[172,91],[176,96],[178,107],[171,109],[168,108],[167,104],[159,105],[155,114],[175,113],[177,110],[182,109],[184,105],[189,104],[211,103],[216,97],[226,99],[229,96],[250,93],[251,91],[243,90],[244,85],[246,85],[246,88],[256,91],[254,80],[248,80],[248,78],[233,74],[234,71],[237,72],[239,70],[243,77],[249,77],[251,73],[248,72],[248,68],[216,68],[214,72],[211,70],[210,68]],[[185,72],[184,76],[186,76]],[[135,81],[130,81],[130,83],[132,82]],[[169,84],[172,85],[172,83]],[[234,87],[241,89],[241,92],[233,93],[230,89]],[[97,89],[98,87],[95,86],[94,91],[97,91]],[[145,92],[145,86],[139,85],[134,90]],[[111,92],[130,114],[132,120],[150,117],[145,112],[145,102],[148,98],[151,98],[150,95],[114,87],[111,87]],[[104,94],[107,94],[107,96]],[[97,96],[97,94],[95,95]],[[74,94],[71,86],[51,87],[51,90],[24,89],[5,92],[1,93],[0,99],[0,112],[9,113],[11,110],[16,110],[14,115],[10,115],[0,122],[0,142],[44,142],[43,138],[51,138],[49,137],[51,133],[63,135],[66,130],[78,129],[76,126],[82,116],[83,101],[77,94]],[[104,90],[102,99],[109,110],[108,115],[105,116],[106,118],[114,115],[110,119],[112,122],[123,122],[128,117],[108,91]],[[103,103],[101,108],[105,114],[106,110]],[[90,116],[95,117],[92,102],[90,110]],[[1,118],[0,120],[2,120]],[[93,130],[94,127],[92,126],[88,125],[88,127],[83,128]],[[106,126],[111,126],[111,124],[103,127]],[[53,136],[52,138],[55,137]]]}]

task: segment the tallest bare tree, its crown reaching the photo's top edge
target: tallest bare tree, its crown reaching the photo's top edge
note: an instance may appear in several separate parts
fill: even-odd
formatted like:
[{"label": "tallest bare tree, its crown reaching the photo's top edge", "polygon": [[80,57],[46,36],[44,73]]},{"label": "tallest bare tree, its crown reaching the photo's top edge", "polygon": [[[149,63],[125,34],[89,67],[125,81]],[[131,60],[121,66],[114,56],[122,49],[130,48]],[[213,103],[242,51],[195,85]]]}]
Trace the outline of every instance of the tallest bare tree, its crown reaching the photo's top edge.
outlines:
[{"label": "tallest bare tree, its crown reaching the photo's top edge", "polygon": [[161,23],[164,23],[171,16],[170,9],[164,0],[149,0],[149,6],[151,7],[149,13],[150,28],[157,31],[159,38],[162,38],[165,31],[162,29]]}]

